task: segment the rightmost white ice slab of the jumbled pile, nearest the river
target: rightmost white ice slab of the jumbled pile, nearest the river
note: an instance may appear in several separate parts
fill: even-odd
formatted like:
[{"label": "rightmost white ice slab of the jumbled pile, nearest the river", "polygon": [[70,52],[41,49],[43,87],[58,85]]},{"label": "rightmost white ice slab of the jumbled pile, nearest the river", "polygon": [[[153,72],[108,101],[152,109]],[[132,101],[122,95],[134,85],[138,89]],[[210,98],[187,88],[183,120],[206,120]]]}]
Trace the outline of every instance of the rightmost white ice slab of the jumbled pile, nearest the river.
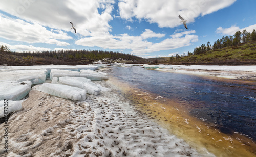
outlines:
[{"label": "rightmost white ice slab of the jumbled pile, nearest the river", "polygon": [[93,70],[81,70],[80,72],[81,72],[80,73],[81,77],[86,77],[87,79],[91,79],[91,80],[108,80],[109,79],[109,77],[103,74],[102,72],[99,73]]}]

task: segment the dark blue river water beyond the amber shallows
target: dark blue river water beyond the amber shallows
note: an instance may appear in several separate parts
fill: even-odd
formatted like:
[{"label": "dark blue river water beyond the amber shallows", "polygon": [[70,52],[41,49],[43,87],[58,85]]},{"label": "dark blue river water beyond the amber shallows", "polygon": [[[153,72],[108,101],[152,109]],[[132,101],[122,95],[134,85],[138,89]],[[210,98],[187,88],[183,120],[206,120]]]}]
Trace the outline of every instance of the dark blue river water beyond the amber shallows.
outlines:
[{"label": "dark blue river water beyond the amber shallows", "polygon": [[[223,135],[237,134],[240,137],[232,138],[241,139],[241,136],[248,138],[251,140],[248,142],[249,145],[253,143],[252,148],[249,149],[255,155],[253,151],[256,141],[255,82],[220,80],[214,77],[146,70],[142,67],[113,67],[110,75],[126,86],[150,92],[159,96],[157,98],[175,100],[181,109],[188,111],[186,114],[190,117],[202,121],[207,127],[214,126],[214,129]],[[188,123],[187,119],[186,123]],[[216,137],[211,138],[216,139]]]}]

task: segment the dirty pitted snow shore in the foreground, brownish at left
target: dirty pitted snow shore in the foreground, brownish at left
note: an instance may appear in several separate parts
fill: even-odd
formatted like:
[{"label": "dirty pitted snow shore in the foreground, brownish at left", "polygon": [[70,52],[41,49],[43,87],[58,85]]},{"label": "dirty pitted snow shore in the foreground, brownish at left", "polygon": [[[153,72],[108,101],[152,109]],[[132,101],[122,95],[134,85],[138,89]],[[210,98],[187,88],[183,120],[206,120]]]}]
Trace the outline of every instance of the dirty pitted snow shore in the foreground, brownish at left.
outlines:
[{"label": "dirty pitted snow shore in the foreground, brownish at left", "polygon": [[8,156],[205,156],[136,111],[113,85],[98,82],[101,94],[86,101],[30,91],[8,121]]}]

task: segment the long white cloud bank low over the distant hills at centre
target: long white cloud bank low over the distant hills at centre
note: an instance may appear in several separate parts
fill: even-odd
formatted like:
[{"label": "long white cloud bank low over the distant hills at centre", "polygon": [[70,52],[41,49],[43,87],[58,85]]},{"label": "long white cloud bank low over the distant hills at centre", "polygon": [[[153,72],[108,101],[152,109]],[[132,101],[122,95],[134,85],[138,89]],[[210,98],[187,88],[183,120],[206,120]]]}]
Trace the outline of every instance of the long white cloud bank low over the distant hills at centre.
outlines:
[{"label": "long white cloud bank low over the distant hills at centre", "polygon": [[[151,32],[151,30],[145,30],[145,32],[148,33]],[[167,38],[159,43],[152,43],[144,40],[145,37],[142,37],[143,33],[140,36],[129,36],[128,34],[113,36],[109,34],[105,36],[86,37],[77,40],[76,44],[89,47],[98,46],[105,49],[131,49],[131,54],[145,55],[146,53],[152,53],[160,50],[189,46],[192,42],[198,41],[198,36],[192,34],[195,33],[194,30],[181,32],[179,35],[176,35],[177,33],[175,33],[171,38]],[[150,35],[147,35],[146,37],[163,36],[163,34],[159,35],[153,31]]]}]

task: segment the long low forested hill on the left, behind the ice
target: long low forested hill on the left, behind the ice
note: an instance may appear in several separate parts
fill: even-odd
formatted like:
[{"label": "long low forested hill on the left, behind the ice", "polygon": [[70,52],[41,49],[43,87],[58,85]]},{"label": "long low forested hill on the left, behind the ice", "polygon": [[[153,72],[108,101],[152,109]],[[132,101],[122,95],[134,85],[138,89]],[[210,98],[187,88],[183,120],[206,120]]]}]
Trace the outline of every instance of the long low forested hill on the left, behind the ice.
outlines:
[{"label": "long low forested hill on the left, behind the ice", "polygon": [[[3,47],[3,48],[2,48]],[[6,46],[0,48],[0,63],[2,65],[77,65],[94,61],[107,63],[146,63],[145,59],[131,54],[102,50],[59,50],[36,52],[11,52]]]}]

